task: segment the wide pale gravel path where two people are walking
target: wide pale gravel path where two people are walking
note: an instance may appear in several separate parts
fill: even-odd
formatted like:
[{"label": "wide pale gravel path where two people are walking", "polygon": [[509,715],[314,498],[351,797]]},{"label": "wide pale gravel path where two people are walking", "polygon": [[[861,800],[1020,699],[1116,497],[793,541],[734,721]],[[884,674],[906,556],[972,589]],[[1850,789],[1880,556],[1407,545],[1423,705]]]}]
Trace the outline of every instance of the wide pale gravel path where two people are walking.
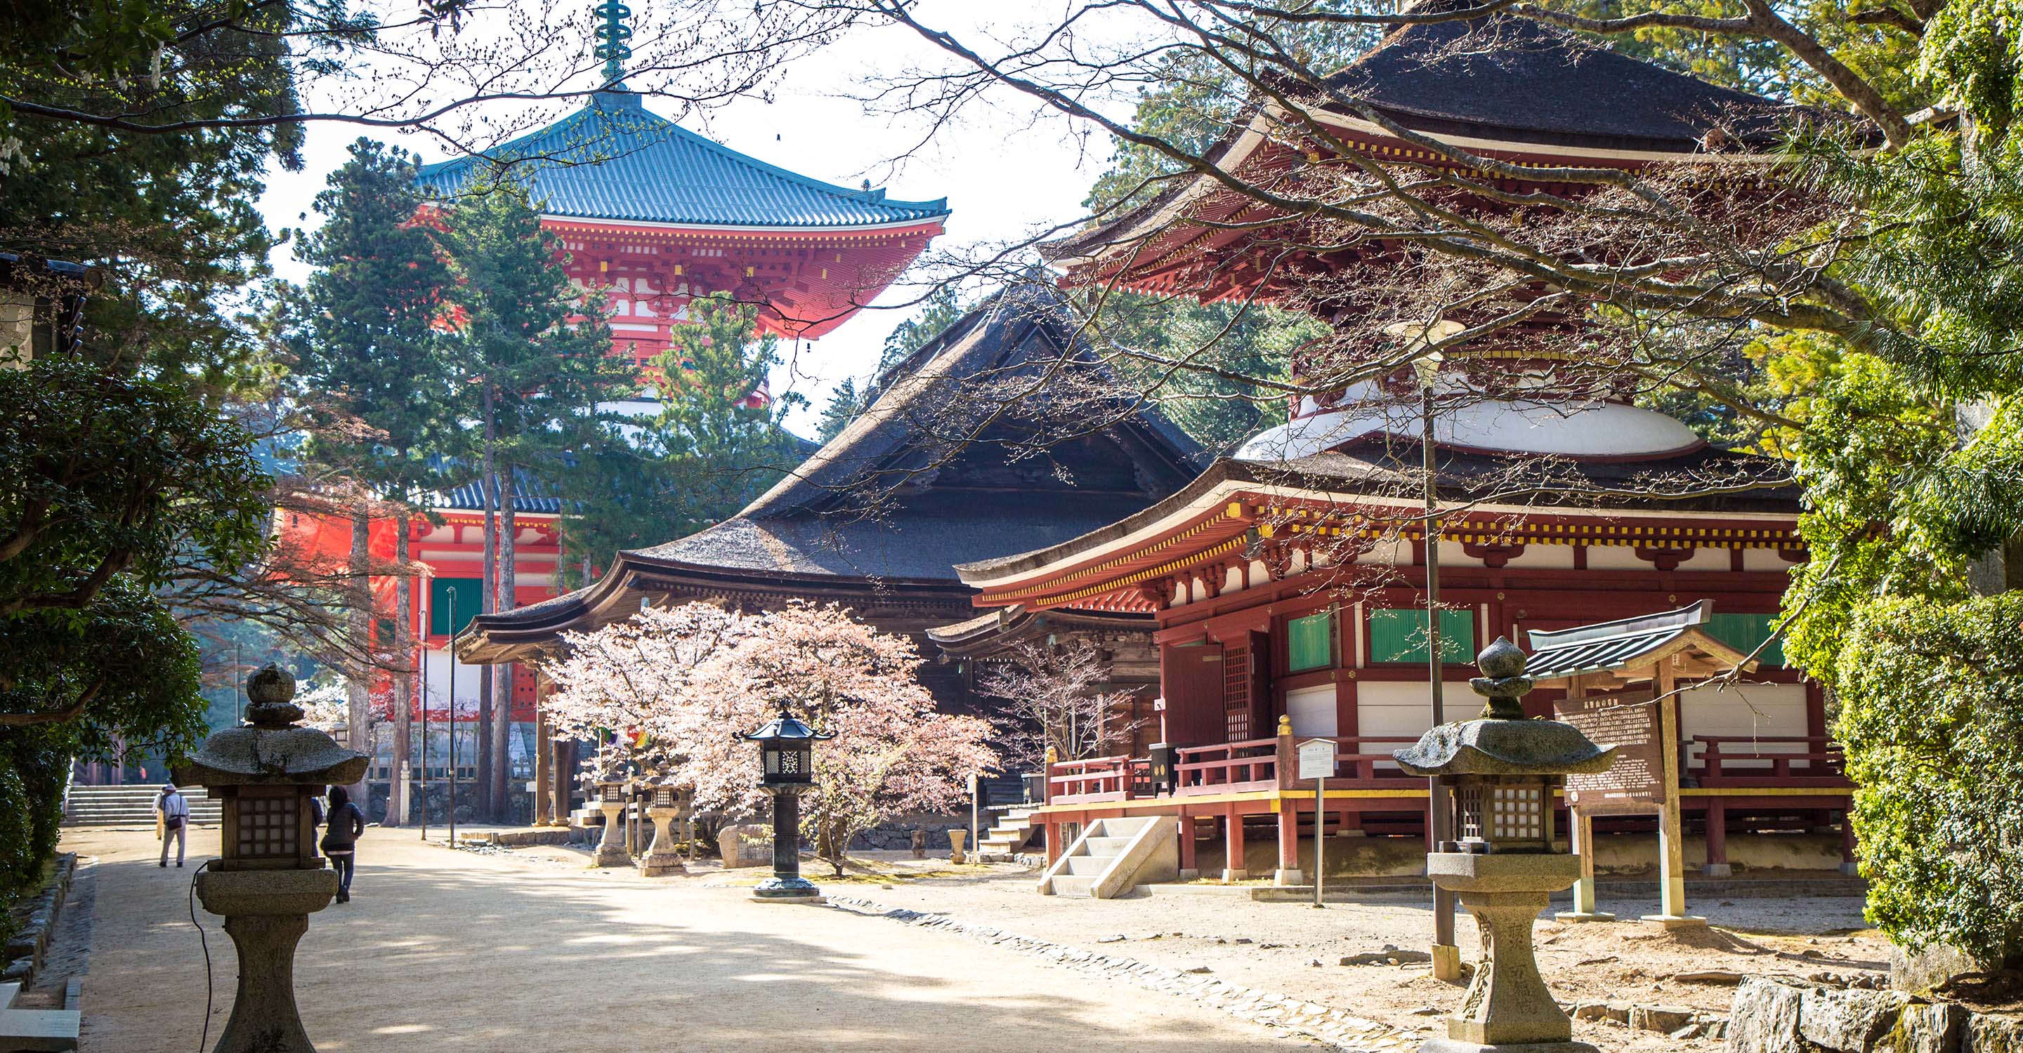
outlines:
[{"label": "wide pale gravel path where two people are walking", "polygon": [[[192,871],[158,869],[150,833],[67,831],[65,847],[99,857],[83,1049],[196,1051],[204,960],[186,914]],[[235,966],[218,920],[198,918],[210,932],[214,1041]],[[380,829],[360,843],[354,901],[312,916],[295,988],[324,1053],[1305,1045],[935,930],[761,905],[698,879],[585,871],[566,857],[449,853]]]}]

